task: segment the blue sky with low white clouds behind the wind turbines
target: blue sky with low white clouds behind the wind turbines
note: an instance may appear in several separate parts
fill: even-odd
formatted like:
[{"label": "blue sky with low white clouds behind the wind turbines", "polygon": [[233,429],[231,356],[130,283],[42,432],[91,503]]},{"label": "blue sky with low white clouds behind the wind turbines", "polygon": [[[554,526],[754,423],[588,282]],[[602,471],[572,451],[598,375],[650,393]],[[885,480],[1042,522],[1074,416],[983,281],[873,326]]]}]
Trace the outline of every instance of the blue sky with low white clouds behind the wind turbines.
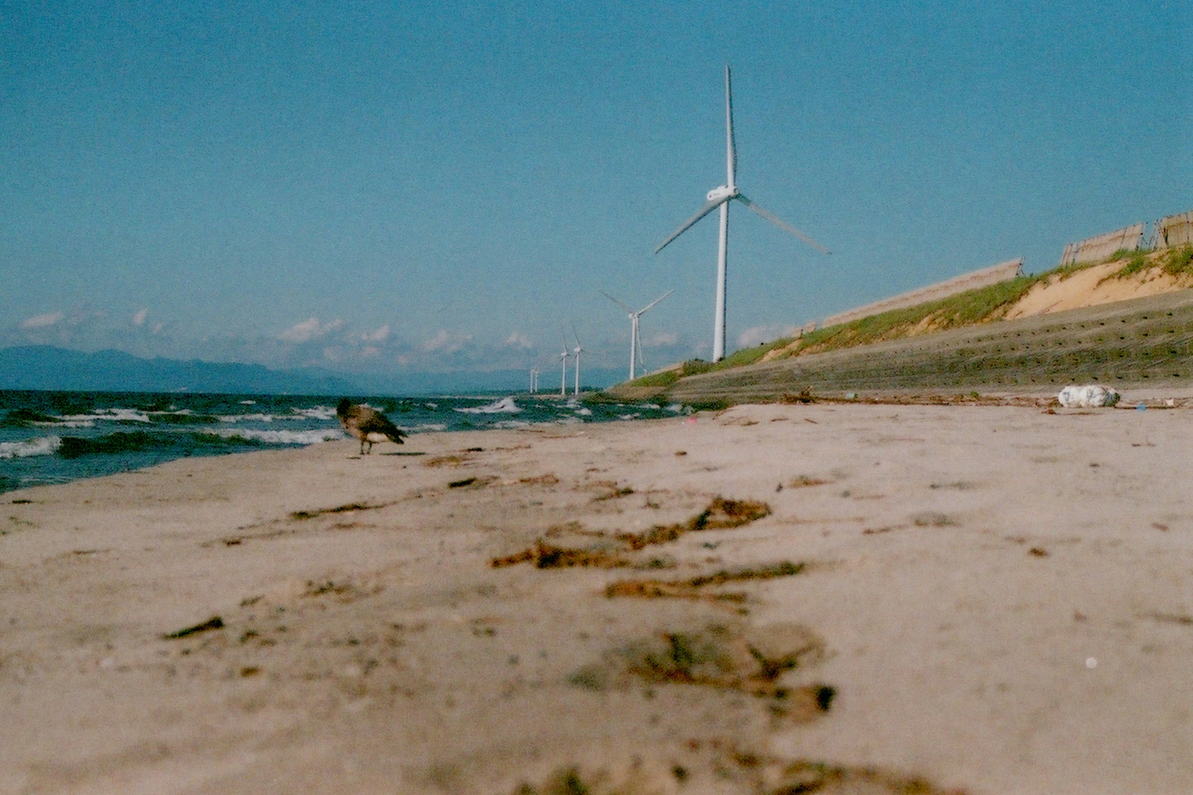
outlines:
[{"label": "blue sky with low white clouds behind the wind turbines", "polygon": [[[1193,0],[0,1],[0,344],[346,373],[710,354],[1193,209]],[[570,334],[570,333],[569,333]]]}]

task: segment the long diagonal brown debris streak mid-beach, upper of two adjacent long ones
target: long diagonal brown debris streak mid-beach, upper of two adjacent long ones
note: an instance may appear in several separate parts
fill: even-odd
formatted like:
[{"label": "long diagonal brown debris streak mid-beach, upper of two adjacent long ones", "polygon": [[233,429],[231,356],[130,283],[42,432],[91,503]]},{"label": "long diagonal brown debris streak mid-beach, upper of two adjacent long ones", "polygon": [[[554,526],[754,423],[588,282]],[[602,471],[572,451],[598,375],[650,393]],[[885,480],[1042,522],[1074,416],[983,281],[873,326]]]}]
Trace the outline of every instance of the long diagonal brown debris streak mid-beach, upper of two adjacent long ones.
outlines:
[{"label": "long diagonal brown debris streak mid-beach, upper of two adjacent long ones", "polygon": [[[604,540],[598,548],[577,549],[546,544],[542,538],[521,552],[502,558],[494,558],[489,565],[494,569],[513,566],[519,563],[533,563],[538,569],[558,569],[570,566],[598,566],[602,569],[629,566],[631,561],[620,552],[637,552],[655,544],[674,541],[685,533],[741,527],[755,520],[769,516],[771,507],[762,502],[749,499],[715,498],[709,507],[686,522],[676,524],[655,524],[642,533],[616,533],[610,536],[599,530],[585,530],[579,522],[549,528],[544,538],[573,535],[595,536]],[[618,548],[610,549],[613,541]]]}]

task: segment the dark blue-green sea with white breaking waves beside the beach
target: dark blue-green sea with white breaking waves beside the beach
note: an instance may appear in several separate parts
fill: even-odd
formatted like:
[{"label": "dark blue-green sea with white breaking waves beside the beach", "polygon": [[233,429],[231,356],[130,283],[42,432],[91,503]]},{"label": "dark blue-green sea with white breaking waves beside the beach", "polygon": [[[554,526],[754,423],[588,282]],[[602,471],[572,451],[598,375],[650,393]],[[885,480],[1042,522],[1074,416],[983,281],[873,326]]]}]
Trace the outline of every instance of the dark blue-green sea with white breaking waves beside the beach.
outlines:
[{"label": "dark blue-green sea with white breaking waves beside the beach", "polygon": [[[223,455],[345,439],[339,397],[0,390],[0,492]],[[414,435],[675,416],[685,406],[585,404],[548,395],[376,397]],[[416,442],[415,442],[416,445]],[[384,446],[382,446],[384,449]]]}]

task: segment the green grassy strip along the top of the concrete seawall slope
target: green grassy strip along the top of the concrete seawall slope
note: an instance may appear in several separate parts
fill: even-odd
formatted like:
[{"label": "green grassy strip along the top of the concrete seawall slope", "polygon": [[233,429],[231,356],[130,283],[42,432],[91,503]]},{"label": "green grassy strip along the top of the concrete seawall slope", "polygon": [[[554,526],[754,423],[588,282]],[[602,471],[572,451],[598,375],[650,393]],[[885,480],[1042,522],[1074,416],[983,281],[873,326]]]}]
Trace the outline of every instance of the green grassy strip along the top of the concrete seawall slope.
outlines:
[{"label": "green grassy strip along the top of the concrete seawall slope", "polygon": [[[783,337],[753,348],[737,350],[721,361],[712,364],[701,359],[692,359],[679,367],[643,375],[629,381],[625,386],[660,389],[667,387],[686,375],[697,375],[718,369],[744,367],[766,358],[768,361],[802,356],[826,350],[837,350],[854,346],[885,342],[902,337],[942,331],[977,323],[989,323],[1001,319],[1021,299],[1027,291],[1041,281],[1058,278],[1067,279],[1073,274],[1104,265],[1125,260],[1123,267],[1106,279],[1126,279],[1152,267],[1161,268],[1173,277],[1193,277],[1193,246],[1169,249],[1167,251],[1115,251],[1100,262],[1080,262],[1046,271],[1032,277],[1020,277],[987,287],[978,287],[939,300],[895,309],[880,315],[871,315],[851,323],[841,323],[817,329],[802,337]],[[1104,279],[1105,281],[1105,279]],[[773,352],[773,353],[772,353]],[[771,354],[767,356],[767,354]]]}]

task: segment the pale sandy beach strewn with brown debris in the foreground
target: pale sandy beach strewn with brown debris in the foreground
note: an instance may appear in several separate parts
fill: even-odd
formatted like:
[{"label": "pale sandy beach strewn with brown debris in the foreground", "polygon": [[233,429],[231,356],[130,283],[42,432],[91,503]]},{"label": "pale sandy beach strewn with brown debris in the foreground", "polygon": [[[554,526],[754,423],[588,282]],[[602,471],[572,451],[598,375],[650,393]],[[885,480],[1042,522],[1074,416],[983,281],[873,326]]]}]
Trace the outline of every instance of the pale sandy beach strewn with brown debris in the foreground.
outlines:
[{"label": "pale sandy beach strewn with brown debris in the foreground", "polygon": [[11,492],[0,791],[1187,793],[1191,420],[737,406]]}]

